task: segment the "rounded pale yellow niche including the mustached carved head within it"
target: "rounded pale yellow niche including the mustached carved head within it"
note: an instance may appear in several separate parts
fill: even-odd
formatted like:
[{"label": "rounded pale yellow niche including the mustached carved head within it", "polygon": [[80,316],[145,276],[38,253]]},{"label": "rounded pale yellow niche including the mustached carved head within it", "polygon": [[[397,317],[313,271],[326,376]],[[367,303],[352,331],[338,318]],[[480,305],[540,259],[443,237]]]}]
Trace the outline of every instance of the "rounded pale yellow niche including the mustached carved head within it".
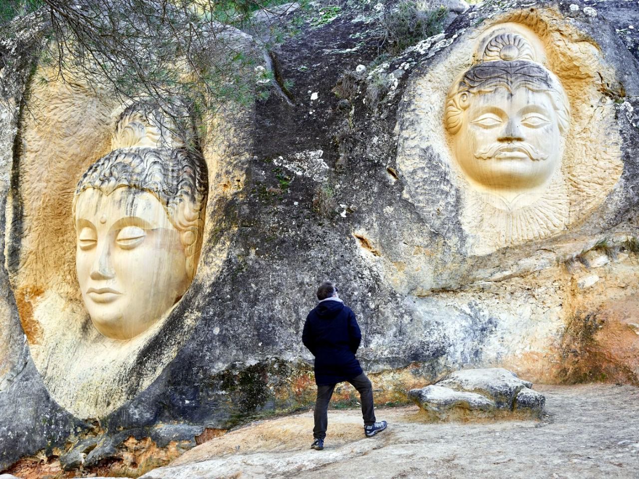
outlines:
[{"label": "rounded pale yellow niche including the mustached carved head within it", "polygon": [[[558,11],[522,10],[468,31],[414,80],[400,130],[404,195],[431,218],[433,165],[459,199],[468,254],[569,229],[612,190],[622,171],[615,72]],[[414,126],[413,126],[414,125]],[[435,212],[436,214],[436,212]]]}]

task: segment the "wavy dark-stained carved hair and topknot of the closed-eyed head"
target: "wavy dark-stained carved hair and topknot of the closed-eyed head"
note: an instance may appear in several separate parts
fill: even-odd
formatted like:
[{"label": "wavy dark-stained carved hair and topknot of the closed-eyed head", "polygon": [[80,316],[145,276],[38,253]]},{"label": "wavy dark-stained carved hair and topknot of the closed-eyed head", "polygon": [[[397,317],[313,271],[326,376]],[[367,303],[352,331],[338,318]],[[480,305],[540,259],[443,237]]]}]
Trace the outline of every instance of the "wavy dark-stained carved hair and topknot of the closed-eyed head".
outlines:
[{"label": "wavy dark-stained carved hair and topknot of the closed-eyed head", "polygon": [[[187,275],[192,280],[196,269],[204,231],[204,210],[208,193],[208,171],[203,158],[186,148],[164,148],[150,125],[141,128],[139,115],[131,107],[120,116],[114,144],[135,145],[146,137],[156,137],[157,148],[118,148],[103,156],[84,172],[73,195],[73,218],[77,199],[82,192],[95,188],[111,194],[117,188],[135,188],[157,197],[171,224],[180,232],[187,258]],[[128,131],[124,134],[122,132]],[[162,130],[160,130],[162,131]],[[118,134],[119,133],[119,134]],[[151,136],[154,135],[155,136]],[[116,141],[119,139],[119,141]],[[125,139],[126,141],[122,141]],[[172,141],[169,139],[169,141]]]}]

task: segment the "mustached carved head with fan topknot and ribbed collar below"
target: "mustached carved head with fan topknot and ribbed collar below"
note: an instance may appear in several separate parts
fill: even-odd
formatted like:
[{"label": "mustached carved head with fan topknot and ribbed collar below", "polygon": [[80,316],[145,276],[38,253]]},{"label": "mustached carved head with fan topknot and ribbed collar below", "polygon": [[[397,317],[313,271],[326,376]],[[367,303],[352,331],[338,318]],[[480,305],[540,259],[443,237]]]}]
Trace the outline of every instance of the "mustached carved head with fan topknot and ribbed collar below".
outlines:
[{"label": "mustached carved head with fan topknot and ribbed collar below", "polygon": [[[506,244],[562,229],[569,207],[561,175],[569,103],[560,81],[520,34],[491,38],[453,82],[444,122],[473,202]],[[564,193],[564,194],[562,194]]]}]

